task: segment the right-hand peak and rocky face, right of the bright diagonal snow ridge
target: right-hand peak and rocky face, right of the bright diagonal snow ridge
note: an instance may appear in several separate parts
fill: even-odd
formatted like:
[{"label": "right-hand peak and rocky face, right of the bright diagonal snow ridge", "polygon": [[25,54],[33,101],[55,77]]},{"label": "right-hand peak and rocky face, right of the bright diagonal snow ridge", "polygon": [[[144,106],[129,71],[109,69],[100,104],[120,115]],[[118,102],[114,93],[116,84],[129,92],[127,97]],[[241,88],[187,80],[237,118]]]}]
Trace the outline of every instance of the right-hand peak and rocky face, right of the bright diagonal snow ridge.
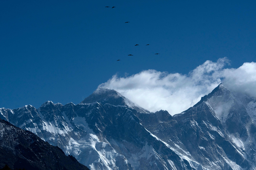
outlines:
[{"label": "right-hand peak and rocky face, right of the bright diagonal snow ridge", "polygon": [[[208,170],[253,170],[255,167],[256,114],[222,84],[188,110],[171,116],[166,111],[138,114],[152,134],[169,144],[181,157]],[[252,104],[251,104],[252,105]],[[245,107],[247,106],[247,107]],[[199,167],[198,167],[199,168]]]}]

